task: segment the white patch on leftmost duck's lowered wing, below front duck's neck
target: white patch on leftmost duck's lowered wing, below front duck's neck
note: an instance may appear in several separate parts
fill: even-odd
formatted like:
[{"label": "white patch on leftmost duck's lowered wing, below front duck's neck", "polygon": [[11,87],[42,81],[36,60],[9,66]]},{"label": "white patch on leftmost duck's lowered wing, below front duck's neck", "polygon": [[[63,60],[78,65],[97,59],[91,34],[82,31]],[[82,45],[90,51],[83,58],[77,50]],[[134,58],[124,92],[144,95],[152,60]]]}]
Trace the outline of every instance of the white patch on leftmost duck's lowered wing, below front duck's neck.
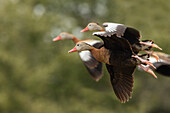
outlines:
[{"label": "white patch on leftmost duck's lowered wing, below front duck's neck", "polygon": [[83,61],[89,61],[91,59],[90,51],[81,51],[79,52],[79,55]]}]

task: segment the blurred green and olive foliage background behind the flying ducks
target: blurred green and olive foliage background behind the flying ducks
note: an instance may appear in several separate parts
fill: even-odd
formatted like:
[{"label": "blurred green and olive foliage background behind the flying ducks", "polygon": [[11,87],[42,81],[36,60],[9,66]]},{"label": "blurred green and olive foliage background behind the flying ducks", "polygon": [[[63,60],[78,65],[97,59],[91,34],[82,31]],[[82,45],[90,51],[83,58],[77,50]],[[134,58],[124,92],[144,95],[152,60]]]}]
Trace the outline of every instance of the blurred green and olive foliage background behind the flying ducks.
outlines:
[{"label": "blurred green and olive foliage background behind the flying ducks", "polygon": [[170,113],[170,78],[135,71],[133,98],[121,104],[104,66],[95,82],[72,41],[89,22],[117,22],[140,30],[170,54],[167,0],[1,0],[0,113]]}]

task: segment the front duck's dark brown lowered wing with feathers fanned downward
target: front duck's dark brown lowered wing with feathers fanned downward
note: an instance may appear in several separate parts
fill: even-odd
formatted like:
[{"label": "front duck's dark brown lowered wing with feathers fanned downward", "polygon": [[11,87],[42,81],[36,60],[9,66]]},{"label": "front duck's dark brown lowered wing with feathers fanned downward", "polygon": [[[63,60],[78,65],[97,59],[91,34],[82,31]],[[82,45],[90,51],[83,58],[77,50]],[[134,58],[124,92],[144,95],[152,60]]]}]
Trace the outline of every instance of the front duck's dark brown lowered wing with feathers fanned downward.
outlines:
[{"label": "front duck's dark brown lowered wing with feathers fanned downward", "polygon": [[125,103],[132,97],[133,72],[136,66],[114,67],[106,64],[110,74],[110,81],[117,98]]}]

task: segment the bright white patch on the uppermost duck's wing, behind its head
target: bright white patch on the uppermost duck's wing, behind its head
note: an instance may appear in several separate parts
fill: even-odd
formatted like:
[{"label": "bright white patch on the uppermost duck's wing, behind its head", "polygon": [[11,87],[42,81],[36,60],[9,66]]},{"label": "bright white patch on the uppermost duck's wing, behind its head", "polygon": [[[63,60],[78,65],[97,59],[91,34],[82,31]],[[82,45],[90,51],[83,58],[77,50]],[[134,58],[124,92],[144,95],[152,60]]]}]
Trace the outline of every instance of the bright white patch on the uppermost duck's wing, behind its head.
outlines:
[{"label": "bright white patch on the uppermost duck's wing, behind its head", "polygon": [[106,32],[115,32],[117,30],[118,25],[124,26],[123,24],[118,23],[103,23]]}]

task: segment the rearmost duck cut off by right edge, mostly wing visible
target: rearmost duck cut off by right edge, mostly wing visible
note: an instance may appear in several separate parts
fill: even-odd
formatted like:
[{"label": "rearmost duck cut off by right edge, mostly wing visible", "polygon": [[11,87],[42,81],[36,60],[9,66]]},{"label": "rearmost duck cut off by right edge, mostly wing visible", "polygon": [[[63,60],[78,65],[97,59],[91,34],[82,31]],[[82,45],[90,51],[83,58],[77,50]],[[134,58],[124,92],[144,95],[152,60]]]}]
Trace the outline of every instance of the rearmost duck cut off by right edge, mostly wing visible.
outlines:
[{"label": "rearmost duck cut off by right edge, mostly wing visible", "polygon": [[[162,53],[162,52],[154,52],[155,55],[159,57],[159,61],[155,58],[150,57],[149,61],[156,67],[156,69],[146,65],[144,67],[151,68],[152,70],[156,71],[157,73],[170,76],[170,55]],[[143,70],[141,67],[138,67],[139,70]]]}]

